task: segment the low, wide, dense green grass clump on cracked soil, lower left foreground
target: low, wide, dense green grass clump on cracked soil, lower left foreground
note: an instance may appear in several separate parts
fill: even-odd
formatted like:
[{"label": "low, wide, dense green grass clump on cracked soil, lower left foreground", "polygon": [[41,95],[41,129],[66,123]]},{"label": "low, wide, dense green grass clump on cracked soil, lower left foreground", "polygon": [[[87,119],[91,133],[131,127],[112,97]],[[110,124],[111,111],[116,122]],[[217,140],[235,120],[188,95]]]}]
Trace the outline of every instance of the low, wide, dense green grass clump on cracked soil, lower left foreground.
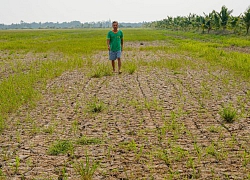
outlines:
[{"label": "low, wide, dense green grass clump on cracked soil, lower left foreground", "polygon": [[74,150],[74,146],[69,140],[58,140],[54,142],[48,149],[49,155],[59,155],[66,154],[68,152],[72,152]]}]

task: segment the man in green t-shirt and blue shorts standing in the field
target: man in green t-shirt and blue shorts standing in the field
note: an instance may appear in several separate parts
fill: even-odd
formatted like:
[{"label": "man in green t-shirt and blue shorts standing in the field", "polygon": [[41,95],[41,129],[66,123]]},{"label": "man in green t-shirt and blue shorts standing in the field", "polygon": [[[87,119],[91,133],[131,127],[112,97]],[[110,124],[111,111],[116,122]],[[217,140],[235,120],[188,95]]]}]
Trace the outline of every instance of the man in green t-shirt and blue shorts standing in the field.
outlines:
[{"label": "man in green t-shirt and blue shorts standing in the field", "polygon": [[123,32],[118,29],[118,22],[113,21],[112,31],[108,32],[107,45],[109,60],[111,60],[113,72],[115,72],[115,60],[118,60],[118,73],[121,74],[121,53],[123,50]]}]

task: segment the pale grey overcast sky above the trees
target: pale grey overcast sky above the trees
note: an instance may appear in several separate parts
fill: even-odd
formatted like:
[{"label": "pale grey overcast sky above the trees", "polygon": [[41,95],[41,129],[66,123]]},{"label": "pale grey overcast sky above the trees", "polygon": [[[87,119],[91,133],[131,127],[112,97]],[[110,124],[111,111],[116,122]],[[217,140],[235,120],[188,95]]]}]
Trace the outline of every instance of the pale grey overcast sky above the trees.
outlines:
[{"label": "pale grey overcast sky above the trees", "polygon": [[0,0],[0,24],[24,22],[156,21],[203,15],[225,5],[238,16],[250,0]]}]

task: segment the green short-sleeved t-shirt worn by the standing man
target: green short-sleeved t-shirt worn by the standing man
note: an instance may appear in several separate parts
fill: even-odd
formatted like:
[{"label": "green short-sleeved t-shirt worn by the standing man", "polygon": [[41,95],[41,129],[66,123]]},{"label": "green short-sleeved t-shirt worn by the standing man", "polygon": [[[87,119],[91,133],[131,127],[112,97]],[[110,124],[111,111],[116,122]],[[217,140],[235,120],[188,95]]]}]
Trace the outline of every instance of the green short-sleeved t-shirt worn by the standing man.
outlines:
[{"label": "green short-sleeved t-shirt worn by the standing man", "polygon": [[110,40],[110,50],[111,51],[121,51],[121,39],[123,38],[123,33],[121,30],[118,30],[117,33],[109,31],[107,39]]}]

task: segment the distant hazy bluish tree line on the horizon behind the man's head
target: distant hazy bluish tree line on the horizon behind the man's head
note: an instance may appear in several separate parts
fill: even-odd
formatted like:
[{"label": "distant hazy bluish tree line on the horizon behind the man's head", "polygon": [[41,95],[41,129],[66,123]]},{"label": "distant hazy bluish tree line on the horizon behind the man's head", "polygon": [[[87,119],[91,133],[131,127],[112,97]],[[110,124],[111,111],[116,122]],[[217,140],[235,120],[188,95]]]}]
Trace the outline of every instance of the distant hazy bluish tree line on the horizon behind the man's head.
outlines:
[{"label": "distant hazy bluish tree line on the horizon behind the man's head", "polygon": [[[119,23],[120,27],[142,27],[144,23]],[[111,28],[112,23],[108,21],[98,21],[98,22],[85,22],[71,21],[71,22],[45,22],[45,23],[27,23],[20,21],[20,23],[12,23],[10,25],[0,24],[0,29],[80,29],[80,28]]]}]

